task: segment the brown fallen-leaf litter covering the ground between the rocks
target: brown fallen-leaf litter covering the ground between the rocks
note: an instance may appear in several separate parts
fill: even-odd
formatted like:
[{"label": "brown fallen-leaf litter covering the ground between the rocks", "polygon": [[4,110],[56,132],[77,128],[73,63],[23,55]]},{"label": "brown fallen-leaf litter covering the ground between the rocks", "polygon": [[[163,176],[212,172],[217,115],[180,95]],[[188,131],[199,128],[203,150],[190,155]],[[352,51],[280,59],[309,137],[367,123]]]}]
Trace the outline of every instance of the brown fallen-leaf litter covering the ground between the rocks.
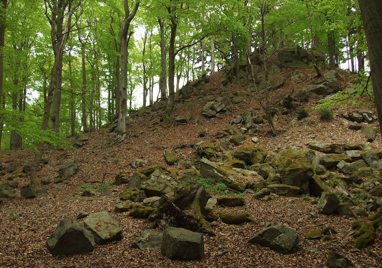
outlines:
[{"label": "brown fallen-leaf litter covering the ground between the rocks", "polygon": [[[306,73],[312,77],[309,71]],[[289,74],[286,72],[285,77]],[[221,74],[212,77],[206,88],[217,88]],[[349,78],[350,79],[350,78]],[[278,96],[290,93],[293,88],[301,88],[301,84],[294,84],[285,79],[285,85],[277,90]],[[344,81],[348,82],[348,81]],[[243,90],[239,85],[231,85],[230,90]],[[367,97],[365,97],[367,98]],[[366,143],[361,133],[348,128],[349,122],[336,117],[326,122],[319,118],[318,112],[312,109],[318,98],[311,98],[305,104],[309,111],[307,120],[300,120],[294,126],[290,124],[293,115],[280,115],[275,122],[280,132],[271,137],[267,125],[260,133],[259,144],[269,151],[290,148],[291,146],[306,147],[312,140],[330,143],[347,143],[351,145]],[[328,251],[335,250],[350,259],[357,268],[382,267],[382,235],[377,236],[373,246],[366,250],[358,250],[353,246],[353,237],[348,235],[351,231],[353,219],[345,219],[339,215],[317,214],[311,217],[313,197],[282,197],[271,194],[268,201],[255,200],[252,194],[247,194],[243,207],[221,208],[231,213],[247,212],[256,221],[256,224],[227,225],[220,220],[213,223],[215,236],[204,236],[205,257],[199,261],[172,261],[162,256],[159,251],[139,250],[131,248],[131,240],[136,232],[144,226],[144,220],[133,219],[127,214],[114,212],[115,205],[122,203],[119,194],[125,190],[124,185],[111,185],[112,194],[101,196],[99,192],[93,197],[82,197],[84,184],[104,181],[111,184],[115,174],[119,172],[133,173],[130,163],[136,158],[145,158],[148,165],[165,164],[164,150],[176,149],[178,155],[184,160],[192,154],[192,146],[201,138],[198,133],[204,131],[207,136],[204,140],[215,140],[219,130],[229,126],[230,120],[245,110],[258,109],[256,100],[247,97],[240,104],[230,104],[229,113],[222,118],[207,119],[201,115],[203,103],[193,99],[184,103],[177,103],[175,112],[186,117],[199,116],[197,123],[190,121],[186,125],[176,125],[173,122],[162,122],[159,125],[150,124],[154,115],[137,117],[128,125],[129,135],[122,144],[110,146],[109,142],[114,133],[108,129],[101,129],[84,134],[89,140],[78,150],[50,149],[44,157],[49,163],[45,165],[38,175],[48,178],[52,183],[43,186],[47,194],[39,195],[33,199],[22,199],[20,192],[12,194],[10,198],[2,200],[0,205],[0,267],[259,267],[259,268],[319,268],[326,267]],[[342,108],[336,108],[339,112]],[[360,108],[347,107],[348,112],[358,111]],[[259,110],[260,111],[260,110]],[[160,113],[160,112],[156,112]],[[378,122],[374,123],[378,128]],[[251,144],[251,137],[247,136],[242,144]],[[381,134],[370,143],[375,149],[382,148]],[[32,159],[33,153],[28,150],[8,151],[0,153],[0,162],[25,162]],[[58,169],[66,162],[76,160],[79,171],[63,183],[55,184]],[[184,160],[174,166],[182,175]],[[22,174],[22,166],[16,172]],[[9,175],[0,177],[3,183]],[[28,177],[17,179],[20,186],[29,184]],[[82,188],[81,188],[82,186]],[[116,243],[96,246],[93,252],[72,256],[54,257],[46,249],[45,242],[55,230],[57,224],[66,217],[76,218],[80,211],[88,213],[108,211],[117,219],[123,230],[123,239]],[[12,220],[11,213],[18,218]],[[79,220],[82,222],[82,220]],[[297,231],[300,236],[298,251],[294,254],[282,255],[266,247],[250,245],[249,239],[261,230],[267,222],[287,225]],[[332,226],[338,231],[331,241],[307,240],[305,233],[314,228]]]}]

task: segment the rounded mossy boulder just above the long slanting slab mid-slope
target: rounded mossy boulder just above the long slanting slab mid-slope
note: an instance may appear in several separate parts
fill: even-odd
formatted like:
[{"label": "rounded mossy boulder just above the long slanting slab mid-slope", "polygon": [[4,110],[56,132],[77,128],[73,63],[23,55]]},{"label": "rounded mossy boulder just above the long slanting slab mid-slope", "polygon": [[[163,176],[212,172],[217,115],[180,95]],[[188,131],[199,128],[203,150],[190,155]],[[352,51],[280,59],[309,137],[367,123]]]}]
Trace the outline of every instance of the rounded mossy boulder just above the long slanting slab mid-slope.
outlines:
[{"label": "rounded mossy boulder just above the long slanting slab mid-slope", "polygon": [[255,163],[264,163],[268,154],[268,150],[261,145],[252,144],[240,146],[233,153],[233,156],[237,159],[244,160],[247,165],[253,165]]}]

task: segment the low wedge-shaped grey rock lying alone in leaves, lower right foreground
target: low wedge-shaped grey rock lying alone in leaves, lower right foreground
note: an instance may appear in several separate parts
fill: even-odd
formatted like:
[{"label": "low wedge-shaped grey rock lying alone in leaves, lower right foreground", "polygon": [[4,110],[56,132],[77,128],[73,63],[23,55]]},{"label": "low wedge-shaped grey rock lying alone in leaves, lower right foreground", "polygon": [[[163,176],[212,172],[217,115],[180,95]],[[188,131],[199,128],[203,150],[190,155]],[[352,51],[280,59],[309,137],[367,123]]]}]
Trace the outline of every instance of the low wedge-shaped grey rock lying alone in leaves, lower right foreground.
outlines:
[{"label": "low wedge-shaped grey rock lying alone in leaves, lower right foreground", "polygon": [[268,247],[278,253],[288,254],[296,252],[299,236],[289,227],[273,225],[260,230],[249,242]]}]

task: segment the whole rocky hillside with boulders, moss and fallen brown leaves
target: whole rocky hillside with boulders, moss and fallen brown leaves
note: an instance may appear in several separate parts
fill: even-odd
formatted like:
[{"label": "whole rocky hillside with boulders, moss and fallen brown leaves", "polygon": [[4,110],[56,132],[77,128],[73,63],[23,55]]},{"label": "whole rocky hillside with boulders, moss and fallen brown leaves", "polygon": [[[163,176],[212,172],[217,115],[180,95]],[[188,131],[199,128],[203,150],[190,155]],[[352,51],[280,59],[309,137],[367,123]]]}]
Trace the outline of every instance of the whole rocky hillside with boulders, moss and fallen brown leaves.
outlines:
[{"label": "whole rocky hillside with boulders, moss and fallen brown leaves", "polygon": [[[48,150],[41,189],[27,187],[32,152],[1,152],[0,265],[380,267],[369,97],[352,97],[348,72],[317,78],[304,51],[271,60],[268,87],[251,62],[256,85],[243,62],[183,87],[171,120],[158,103],[140,109],[122,143],[110,125]],[[344,106],[313,109],[336,92]]]}]

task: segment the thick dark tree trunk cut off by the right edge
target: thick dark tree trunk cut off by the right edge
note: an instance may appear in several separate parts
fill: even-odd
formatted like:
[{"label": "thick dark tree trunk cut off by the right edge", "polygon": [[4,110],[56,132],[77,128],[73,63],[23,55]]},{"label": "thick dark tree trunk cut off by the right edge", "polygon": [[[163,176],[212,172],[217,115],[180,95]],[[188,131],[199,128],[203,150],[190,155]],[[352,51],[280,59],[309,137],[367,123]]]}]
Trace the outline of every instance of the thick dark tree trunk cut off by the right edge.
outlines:
[{"label": "thick dark tree trunk cut off by the right edge", "polygon": [[382,6],[380,0],[358,0],[369,48],[370,74],[382,132]]}]

